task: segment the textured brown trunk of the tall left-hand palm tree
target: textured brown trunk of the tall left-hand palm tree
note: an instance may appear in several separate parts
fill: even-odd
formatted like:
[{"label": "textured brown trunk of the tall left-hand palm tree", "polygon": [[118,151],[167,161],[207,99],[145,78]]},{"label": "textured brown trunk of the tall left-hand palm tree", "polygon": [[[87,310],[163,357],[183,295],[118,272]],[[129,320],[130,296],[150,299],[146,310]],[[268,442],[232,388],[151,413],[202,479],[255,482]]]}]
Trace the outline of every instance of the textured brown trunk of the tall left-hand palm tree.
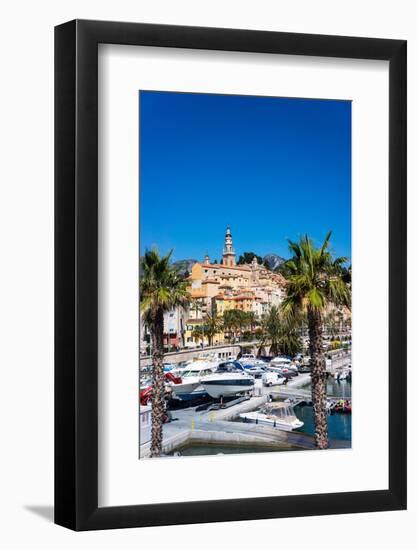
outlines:
[{"label": "textured brown trunk of the tall left-hand palm tree", "polygon": [[155,323],[151,330],[152,337],[152,438],[151,457],[161,455],[162,424],[165,412],[164,381],[164,314],[156,313]]}]

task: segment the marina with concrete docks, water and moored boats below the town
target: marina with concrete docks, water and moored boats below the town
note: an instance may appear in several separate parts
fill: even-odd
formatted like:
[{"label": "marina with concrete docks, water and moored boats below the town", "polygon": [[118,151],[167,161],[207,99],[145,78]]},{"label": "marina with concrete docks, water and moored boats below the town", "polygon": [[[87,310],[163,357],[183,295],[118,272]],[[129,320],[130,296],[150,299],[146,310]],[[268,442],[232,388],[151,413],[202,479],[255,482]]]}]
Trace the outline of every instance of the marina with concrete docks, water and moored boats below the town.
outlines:
[{"label": "marina with concrete docks, water and moored boats below the town", "polygon": [[[188,368],[185,372],[192,372],[192,368]],[[226,368],[225,363],[214,373],[212,367],[203,370],[208,373],[195,381],[196,384],[198,382],[197,390],[204,387],[205,379],[208,382],[215,381],[216,388],[219,388],[223,385],[219,385],[222,380],[227,378],[230,381],[232,377],[233,395],[227,398],[225,392],[225,395],[220,395],[216,390],[212,396],[208,395],[197,403],[179,400],[171,402],[168,407],[169,421],[163,427],[163,456],[315,449],[309,373],[298,374],[288,379],[286,384],[268,387],[262,378],[255,379],[244,369]],[[236,387],[237,380],[247,381],[250,394],[248,392],[245,395],[246,392],[242,391],[246,389],[245,386]],[[209,386],[206,384],[206,387]],[[229,387],[228,383],[225,386]],[[175,394],[175,384],[172,387]],[[350,399],[350,388],[350,382],[337,382],[334,375],[329,375],[328,424],[332,449],[350,448],[350,414],[331,414],[341,398]],[[149,408],[145,407],[145,410],[149,416]],[[273,415],[279,411],[279,415],[290,416],[292,424],[288,424],[288,418],[284,423],[278,417],[274,419],[271,411]],[[141,430],[140,457],[150,456],[149,418],[148,422],[148,432]]]}]

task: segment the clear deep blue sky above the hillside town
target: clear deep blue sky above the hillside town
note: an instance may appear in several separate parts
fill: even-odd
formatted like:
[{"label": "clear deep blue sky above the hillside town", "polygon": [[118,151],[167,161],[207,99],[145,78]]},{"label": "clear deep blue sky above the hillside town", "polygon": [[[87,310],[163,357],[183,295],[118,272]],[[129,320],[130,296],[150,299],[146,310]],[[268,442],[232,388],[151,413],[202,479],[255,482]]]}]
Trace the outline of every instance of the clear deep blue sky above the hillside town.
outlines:
[{"label": "clear deep blue sky above the hillside town", "polygon": [[227,225],[237,254],[288,257],[287,239],[351,255],[351,103],[139,93],[140,246],[220,261]]}]

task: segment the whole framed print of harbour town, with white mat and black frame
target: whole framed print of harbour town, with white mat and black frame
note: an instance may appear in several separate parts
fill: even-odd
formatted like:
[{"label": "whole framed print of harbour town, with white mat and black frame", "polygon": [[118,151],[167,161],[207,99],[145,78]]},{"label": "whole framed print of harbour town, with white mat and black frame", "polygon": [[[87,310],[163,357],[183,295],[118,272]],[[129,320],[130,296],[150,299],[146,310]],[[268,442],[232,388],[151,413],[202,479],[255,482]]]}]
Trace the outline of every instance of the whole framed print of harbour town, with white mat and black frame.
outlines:
[{"label": "whole framed print of harbour town, with white mat and black frame", "polygon": [[406,42],[55,30],[55,521],[406,507]]}]

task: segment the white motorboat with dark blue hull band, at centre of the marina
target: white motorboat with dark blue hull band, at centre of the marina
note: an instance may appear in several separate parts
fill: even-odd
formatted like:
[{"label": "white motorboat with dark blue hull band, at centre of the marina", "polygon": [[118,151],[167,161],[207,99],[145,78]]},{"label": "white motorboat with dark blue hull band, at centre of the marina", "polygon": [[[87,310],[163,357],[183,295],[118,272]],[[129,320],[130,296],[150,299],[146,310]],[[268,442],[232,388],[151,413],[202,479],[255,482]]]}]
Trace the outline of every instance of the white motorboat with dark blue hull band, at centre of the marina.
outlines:
[{"label": "white motorboat with dark blue hull band, at centre of the marina", "polygon": [[237,361],[221,363],[216,371],[201,379],[206,392],[214,399],[244,394],[255,387],[255,378],[247,374]]}]

